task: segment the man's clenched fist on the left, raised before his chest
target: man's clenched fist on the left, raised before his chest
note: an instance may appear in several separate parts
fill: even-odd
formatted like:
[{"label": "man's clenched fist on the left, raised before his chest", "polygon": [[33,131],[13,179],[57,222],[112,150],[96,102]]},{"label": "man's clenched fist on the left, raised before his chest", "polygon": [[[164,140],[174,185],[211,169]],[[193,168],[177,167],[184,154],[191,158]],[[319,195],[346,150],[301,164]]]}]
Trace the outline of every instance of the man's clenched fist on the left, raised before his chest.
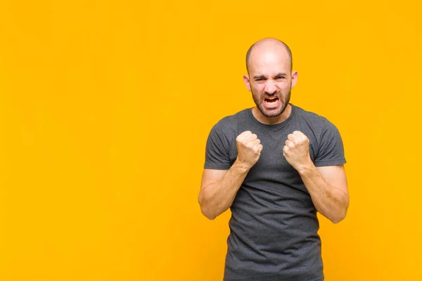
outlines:
[{"label": "man's clenched fist on the left, raised before his chest", "polygon": [[260,159],[262,144],[260,139],[251,131],[244,131],[236,138],[238,161],[248,169]]}]

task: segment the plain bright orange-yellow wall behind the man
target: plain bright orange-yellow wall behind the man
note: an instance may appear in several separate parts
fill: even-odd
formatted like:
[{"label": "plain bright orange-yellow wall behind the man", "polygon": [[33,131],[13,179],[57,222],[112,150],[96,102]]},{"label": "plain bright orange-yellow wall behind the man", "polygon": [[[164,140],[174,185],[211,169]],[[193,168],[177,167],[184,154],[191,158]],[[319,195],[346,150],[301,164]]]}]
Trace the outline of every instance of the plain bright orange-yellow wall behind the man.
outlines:
[{"label": "plain bright orange-yellow wall behind the man", "polygon": [[222,280],[229,213],[197,202],[205,141],[253,105],[262,37],[290,45],[292,103],[345,143],[326,280],[422,280],[418,5],[1,1],[0,280]]}]

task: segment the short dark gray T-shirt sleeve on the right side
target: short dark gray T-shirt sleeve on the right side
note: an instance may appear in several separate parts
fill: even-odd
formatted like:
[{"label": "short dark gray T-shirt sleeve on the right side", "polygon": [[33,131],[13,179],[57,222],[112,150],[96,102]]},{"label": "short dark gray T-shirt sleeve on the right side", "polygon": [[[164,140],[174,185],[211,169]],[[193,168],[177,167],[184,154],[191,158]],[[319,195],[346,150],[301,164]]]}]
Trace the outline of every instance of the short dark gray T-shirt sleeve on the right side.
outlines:
[{"label": "short dark gray T-shirt sleeve on the right side", "polygon": [[324,118],[319,138],[319,150],[315,157],[315,166],[333,166],[345,164],[343,140],[337,127]]}]

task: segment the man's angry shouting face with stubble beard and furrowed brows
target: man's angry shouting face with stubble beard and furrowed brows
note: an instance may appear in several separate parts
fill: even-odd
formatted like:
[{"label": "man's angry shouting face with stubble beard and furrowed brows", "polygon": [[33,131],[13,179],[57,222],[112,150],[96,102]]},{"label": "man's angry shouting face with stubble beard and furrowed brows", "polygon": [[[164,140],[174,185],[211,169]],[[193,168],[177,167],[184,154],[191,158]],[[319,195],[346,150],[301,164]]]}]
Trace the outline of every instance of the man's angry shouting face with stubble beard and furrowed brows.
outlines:
[{"label": "man's angry shouting face with stubble beard and furrowed brows", "polygon": [[290,67],[287,52],[271,50],[251,55],[245,84],[265,117],[277,117],[286,109],[297,75]]}]

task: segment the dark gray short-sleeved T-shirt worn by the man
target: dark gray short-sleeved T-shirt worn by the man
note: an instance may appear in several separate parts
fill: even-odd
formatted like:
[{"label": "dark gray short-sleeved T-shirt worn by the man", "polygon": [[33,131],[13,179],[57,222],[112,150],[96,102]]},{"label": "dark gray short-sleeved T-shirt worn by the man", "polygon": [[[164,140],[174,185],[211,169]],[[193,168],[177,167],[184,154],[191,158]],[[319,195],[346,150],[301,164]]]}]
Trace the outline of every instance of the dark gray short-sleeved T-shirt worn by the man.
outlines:
[{"label": "dark gray short-sleeved T-shirt worn by the man", "polygon": [[243,131],[263,145],[230,208],[224,281],[324,280],[316,209],[283,146],[289,133],[302,131],[315,166],[331,166],[346,162],[343,141],[328,119],[290,105],[280,124],[262,124],[248,108],[221,119],[207,138],[205,169],[229,169]]}]

